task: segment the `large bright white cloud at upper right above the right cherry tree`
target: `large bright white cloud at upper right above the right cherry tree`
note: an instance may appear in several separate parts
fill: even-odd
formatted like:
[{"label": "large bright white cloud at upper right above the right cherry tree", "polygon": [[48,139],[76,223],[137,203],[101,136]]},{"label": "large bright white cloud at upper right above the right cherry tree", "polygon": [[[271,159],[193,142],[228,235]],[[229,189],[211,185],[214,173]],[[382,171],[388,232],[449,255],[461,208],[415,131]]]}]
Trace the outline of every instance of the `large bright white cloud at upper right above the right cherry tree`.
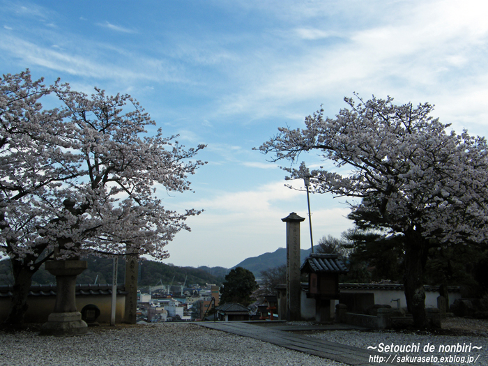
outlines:
[{"label": "large bright white cloud at upper right above the right cherry tree", "polygon": [[[260,65],[252,68],[254,73],[267,65],[279,67],[266,67],[259,81],[222,98],[218,112],[226,115],[252,110],[254,116],[264,118],[280,114],[285,106],[298,101],[334,98],[340,102],[353,91],[414,103],[427,99],[439,110],[444,107],[439,99],[450,107],[464,97],[457,84],[473,85],[478,84],[477,79],[486,79],[488,71],[482,60],[488,56],[483,46],[488,41],[487,5],[437,1],[395,6],[387,8],[379,24],[348,29],[335,43],[297,45],[297,56],[291,52],[287,58],[279,53],[264,54]],[[296,31],[306,39],[330,34],[327,24],[323,29],[298,27]],[[481,98],[488,98],[486,88],[476,89]],[[471,101],[466,109],[476,107]],[[477,115],[470,114],[475,123]]]}]

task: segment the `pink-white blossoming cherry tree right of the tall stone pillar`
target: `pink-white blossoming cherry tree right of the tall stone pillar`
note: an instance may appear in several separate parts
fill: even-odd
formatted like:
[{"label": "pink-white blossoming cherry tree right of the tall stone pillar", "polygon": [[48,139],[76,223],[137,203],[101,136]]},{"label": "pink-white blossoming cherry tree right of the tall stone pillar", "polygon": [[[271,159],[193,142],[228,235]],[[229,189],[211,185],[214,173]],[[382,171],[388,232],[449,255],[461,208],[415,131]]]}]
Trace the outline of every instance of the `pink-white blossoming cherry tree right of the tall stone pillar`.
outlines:
[{"label": "pink-white blossoming cherry tree right of the tall stone pillar", "polygon": [[[422,275],[429,248],[487,243],[487,143],[466,130],[446,132],[449,125],[432,118],[427,103],[357,98],[357,105],[345,98],[349,109],[335,119],[320,109],[307,116],[305,129],[280,128],[259,149],[273,161],[291,162],[304,151],[319,151],[337,171],[312,171],[314,192],[352,197],[352,213],[404,236],[407,305],[415,326],[425,328]],[[289,179],[307,173],[305,163],[285,170]]]}]

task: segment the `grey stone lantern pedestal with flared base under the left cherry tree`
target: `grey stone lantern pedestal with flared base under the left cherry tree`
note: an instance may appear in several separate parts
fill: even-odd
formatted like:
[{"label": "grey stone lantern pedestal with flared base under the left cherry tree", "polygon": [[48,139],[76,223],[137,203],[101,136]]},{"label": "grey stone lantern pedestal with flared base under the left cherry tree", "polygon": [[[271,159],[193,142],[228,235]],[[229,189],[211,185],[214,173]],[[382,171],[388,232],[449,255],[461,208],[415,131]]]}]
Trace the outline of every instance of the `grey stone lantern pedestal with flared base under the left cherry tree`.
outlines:
[{"label": "grey stone lantern pedestal with flared base under the left cherry tree", "polygon": [[90,334],[76,309],[76,277],[87,268],[86,261],[47,261],[46,269],[56,276],[56,305],[49,314],[47,323],[40,330],[41,335],[85,335]]}]

